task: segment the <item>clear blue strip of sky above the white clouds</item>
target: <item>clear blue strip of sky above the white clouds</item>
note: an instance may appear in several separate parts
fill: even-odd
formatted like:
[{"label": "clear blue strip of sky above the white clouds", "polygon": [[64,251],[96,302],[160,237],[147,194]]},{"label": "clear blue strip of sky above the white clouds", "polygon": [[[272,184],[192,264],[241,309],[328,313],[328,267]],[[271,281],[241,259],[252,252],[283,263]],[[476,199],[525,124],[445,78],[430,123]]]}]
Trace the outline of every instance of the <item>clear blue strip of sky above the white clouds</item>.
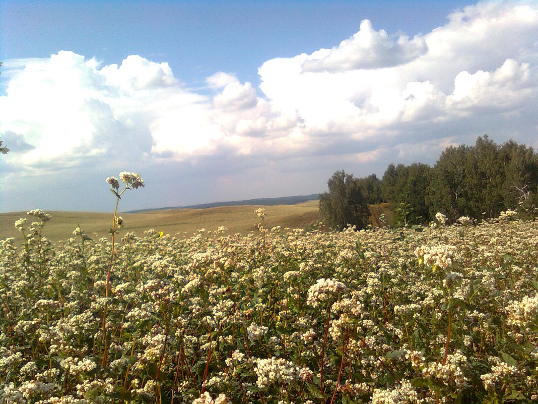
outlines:
[{"label": "clear blue strip of sky above the white clouds", "polygon": [[446,22],[464,1],[12,2],[0,5],[3,59],[46,58],[59,50],[121,63],[130,54],[166,61],[181,81],[217,72],[258,82],[276,57],[331,47],[369,18],[408,35]]}]

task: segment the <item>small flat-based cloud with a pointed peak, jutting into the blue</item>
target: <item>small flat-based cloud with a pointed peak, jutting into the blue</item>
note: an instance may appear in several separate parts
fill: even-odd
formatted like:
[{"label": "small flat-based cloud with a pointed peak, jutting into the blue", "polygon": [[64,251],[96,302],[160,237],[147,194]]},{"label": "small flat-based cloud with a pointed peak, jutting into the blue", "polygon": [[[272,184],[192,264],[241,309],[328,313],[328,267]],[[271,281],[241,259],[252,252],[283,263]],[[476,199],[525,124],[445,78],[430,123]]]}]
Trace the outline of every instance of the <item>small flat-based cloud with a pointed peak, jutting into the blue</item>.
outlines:
[{"label": "small flat-based cloud with a pointed peak, jutting into the blue", "polygon": [[390,38],[385,30],[375,31],[368,19],[362,20],[359,31],[331,49],[320,49],[309,55],[301,67],[305,72],[346,72],[398,66],[426,53],[422,36],[409,40],[400,35]]}]

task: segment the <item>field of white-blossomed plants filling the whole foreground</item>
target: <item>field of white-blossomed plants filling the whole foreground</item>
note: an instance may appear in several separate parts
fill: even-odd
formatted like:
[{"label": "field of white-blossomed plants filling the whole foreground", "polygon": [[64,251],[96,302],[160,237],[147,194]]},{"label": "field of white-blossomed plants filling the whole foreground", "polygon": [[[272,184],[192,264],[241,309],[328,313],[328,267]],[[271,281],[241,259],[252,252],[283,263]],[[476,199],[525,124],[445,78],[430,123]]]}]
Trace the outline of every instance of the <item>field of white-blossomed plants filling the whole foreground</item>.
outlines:
[{"label": "field of white-blossomed plants filling the whole foreground", "polygon": [[0,241],[0,403],[538,401],[536,220],[119,233],[107,291],[111,242],[29,213]]}]

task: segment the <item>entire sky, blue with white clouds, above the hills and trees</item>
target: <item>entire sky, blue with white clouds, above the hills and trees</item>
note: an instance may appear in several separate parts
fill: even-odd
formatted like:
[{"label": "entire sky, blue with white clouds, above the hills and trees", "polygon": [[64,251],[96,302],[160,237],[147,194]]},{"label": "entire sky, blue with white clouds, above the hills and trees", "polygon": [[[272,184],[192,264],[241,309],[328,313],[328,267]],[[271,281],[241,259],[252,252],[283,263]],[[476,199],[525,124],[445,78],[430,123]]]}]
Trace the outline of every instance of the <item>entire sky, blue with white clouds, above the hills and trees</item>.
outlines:
[{"label": "entire sky, blue with white clouds, above the hills and trees", "polygon": [[312,194],[538,148],[536,1],[0,3],[0,212]]}]

